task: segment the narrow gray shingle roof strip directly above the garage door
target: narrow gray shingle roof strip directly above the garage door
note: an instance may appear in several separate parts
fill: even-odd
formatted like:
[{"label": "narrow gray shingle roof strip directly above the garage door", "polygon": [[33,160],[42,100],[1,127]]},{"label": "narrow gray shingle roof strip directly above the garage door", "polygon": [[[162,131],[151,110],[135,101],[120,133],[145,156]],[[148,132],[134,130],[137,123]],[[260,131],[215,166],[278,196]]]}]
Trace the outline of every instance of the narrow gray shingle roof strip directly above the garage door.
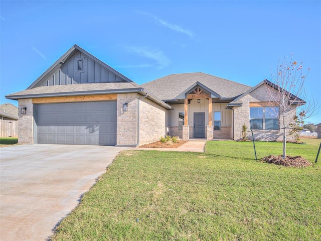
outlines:
[{"label": "narrow gray shingle roof strip directly above the garage door", "polygon": [[17,99],[33,95],[55,95],[61,96],[67,93],[84,93],[90,94],[90,92],[112,92],[116,90],[136,89],[141,88],[139,85],[133,82],[109,82],[109,83],[86,83],[86,84],[67,84],[67,85],[52,85],[52,86],[40,86],[32,89],[26,89],[20,92],[9,94],[6,98]]}]

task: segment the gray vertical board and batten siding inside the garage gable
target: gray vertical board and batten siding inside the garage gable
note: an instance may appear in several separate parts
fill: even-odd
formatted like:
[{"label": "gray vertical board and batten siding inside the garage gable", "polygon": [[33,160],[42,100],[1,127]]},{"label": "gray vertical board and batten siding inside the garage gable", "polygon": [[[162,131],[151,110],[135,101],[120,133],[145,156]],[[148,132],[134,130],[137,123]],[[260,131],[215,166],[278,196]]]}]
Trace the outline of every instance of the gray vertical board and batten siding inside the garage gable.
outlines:
[{"label": "gray vertical board and batten siding inside the garage gable", "polygon": [[[82,62],[82,70],[78,69],[78,60]],[[77,52],[68,59],[42,85],[65,85],[83,83],[105,83],[125,81],[87,55]]]}]

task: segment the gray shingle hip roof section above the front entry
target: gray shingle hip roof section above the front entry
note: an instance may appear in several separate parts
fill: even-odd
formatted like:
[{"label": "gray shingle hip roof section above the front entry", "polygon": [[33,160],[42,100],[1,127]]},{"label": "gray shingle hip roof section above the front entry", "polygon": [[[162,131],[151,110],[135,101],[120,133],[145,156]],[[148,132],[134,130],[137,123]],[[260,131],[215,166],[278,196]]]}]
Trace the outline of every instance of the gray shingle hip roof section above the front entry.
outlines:
[{"label": "gray shingle hip roof section above the front entry", "polygon": [[141,86],[160,99],[170,100],[196,82],[200,82],[222,97],[236,97],[251,87],[204,73],[171,74]]}]

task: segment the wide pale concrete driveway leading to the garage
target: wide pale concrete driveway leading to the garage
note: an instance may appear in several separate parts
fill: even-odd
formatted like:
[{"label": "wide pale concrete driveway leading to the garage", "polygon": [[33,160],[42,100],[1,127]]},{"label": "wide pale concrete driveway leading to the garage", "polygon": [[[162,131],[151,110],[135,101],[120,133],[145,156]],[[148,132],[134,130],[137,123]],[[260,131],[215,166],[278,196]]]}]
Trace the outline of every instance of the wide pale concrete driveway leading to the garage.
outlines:
[{"label": "wide pale concrete driveway leading to the garage", "polygon": [[125,148],[18,145],[0,149],[0,240],[46,240]]}]

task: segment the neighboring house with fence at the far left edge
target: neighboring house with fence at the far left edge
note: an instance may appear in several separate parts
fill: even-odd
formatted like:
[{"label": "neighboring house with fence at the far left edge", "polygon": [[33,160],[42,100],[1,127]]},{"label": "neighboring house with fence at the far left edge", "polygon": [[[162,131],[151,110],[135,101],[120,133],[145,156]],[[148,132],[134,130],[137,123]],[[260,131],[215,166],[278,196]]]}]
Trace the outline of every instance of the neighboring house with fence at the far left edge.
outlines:
[{"label": "neighboring house with fence at the far left edge", "polygon": [[18,118],[17,106],[0,104],[0,137],[18,137]]}]

